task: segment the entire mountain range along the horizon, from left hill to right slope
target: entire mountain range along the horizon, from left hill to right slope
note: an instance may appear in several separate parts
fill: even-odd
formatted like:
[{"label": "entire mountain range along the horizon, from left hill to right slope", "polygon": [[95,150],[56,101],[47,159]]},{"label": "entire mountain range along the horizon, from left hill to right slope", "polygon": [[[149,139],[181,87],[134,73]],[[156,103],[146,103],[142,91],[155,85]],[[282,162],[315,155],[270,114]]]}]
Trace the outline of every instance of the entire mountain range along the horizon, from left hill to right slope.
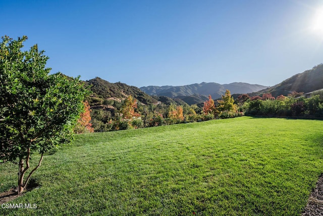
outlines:
[{"label": "entire mountain range along the horizon, from left hill to right slope", "polygon": [[265,87],[258,84],[233,82],[230,84],[219,84],[216,82],[202,82],[182,86],[165,85],[162,87],[133,87],[125,83],[111,83],[99,77],[85,81],[90,85],[93,92],[92,98],[102,100],[123,100],[129,95],[136,98],[142,104],[199,104],[207,100],[211,95],[213,99],[219,99],[225,91],[230,90],[236,98],[241,94],[248,93],[249,96],[271,93],[274,97],[292,92],[308,93],[323,89],[323,64],[314,66],[310,70],[298,73],[273,87]]}]

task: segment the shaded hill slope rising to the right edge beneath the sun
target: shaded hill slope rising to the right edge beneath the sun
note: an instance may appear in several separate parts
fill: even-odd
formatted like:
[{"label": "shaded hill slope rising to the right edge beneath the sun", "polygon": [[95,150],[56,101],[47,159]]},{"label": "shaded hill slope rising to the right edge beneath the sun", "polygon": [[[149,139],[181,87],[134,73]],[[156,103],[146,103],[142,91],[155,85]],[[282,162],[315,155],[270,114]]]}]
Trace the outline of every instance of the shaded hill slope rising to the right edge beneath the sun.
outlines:
[{"label": "shaded hill slope rising to the right edge beneath the sun", "polygon": [[287,96],[292,92],[308,93],[320,89],[323,89],[323,64],[314,66],[311,70],[306,70],[303,73],[298,73],[273,87],[249,95],[271,93],[273,97],[277,97],[279,95]]}]

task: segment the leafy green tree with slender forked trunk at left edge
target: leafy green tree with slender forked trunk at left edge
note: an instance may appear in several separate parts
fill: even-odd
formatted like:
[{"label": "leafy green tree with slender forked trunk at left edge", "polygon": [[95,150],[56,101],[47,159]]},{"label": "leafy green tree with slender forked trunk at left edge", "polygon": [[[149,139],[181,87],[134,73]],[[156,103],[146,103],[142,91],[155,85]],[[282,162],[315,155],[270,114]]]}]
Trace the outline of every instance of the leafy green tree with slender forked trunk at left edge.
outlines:
[{"label": "leafy green tree with slender forked trunk at left edge", "polygon": [[[44,51],[38,52],[37,45],[22,51],[26,39],[4,36],[0,44],[0,162],[19,165],[18,194],[40,166],[43,154],[71,141],[89,93],[79,77],[49,75]],[[39,153],[40,159],[30,170],[33,153]]]}]

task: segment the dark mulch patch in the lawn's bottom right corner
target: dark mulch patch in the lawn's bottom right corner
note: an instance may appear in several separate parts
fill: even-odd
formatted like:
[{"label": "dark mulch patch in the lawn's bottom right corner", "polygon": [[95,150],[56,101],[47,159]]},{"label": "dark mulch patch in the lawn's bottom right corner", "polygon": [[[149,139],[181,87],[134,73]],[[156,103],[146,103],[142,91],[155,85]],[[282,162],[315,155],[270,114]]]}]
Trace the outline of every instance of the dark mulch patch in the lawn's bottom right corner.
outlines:
[{"label": "dark mulch patch in the lawn's bottom right corner", "polygon": [[323,175],[318,178],[316,187],[313,189],[308,198],[302,216],[318,216],[323,215]]}]

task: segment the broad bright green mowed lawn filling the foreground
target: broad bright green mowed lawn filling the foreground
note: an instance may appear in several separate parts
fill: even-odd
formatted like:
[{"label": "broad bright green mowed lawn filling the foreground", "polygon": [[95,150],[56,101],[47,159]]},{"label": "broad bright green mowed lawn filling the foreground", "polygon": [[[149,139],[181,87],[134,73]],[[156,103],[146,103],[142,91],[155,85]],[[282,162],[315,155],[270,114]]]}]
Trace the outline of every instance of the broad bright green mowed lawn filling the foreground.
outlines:
[{"label": "broad bright green mowed lawn filling the foreground", "polygon": [[[239,117],[78,135],[3,215],[299,215],[323,172],[323,121]],[[34,156],[36,163],[38,156]],[[0,192],[18,167],[0,165]]]}]

